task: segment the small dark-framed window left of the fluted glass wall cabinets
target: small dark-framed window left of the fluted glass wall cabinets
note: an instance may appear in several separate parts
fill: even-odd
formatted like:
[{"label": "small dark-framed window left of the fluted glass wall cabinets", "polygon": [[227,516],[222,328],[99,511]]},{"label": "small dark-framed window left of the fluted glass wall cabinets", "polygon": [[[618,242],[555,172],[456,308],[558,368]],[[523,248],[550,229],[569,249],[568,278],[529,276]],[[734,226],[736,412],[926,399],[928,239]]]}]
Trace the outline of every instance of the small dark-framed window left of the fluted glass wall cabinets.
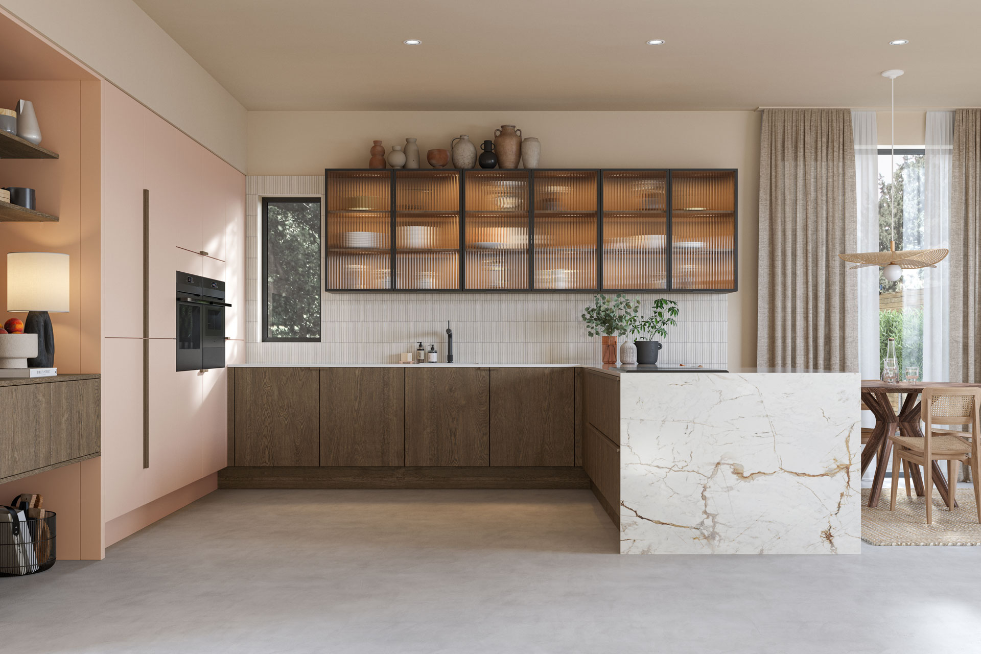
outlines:
[{"label": "small dark-framed window left of the fluted glass wall cabinets", "polygon": [[320,341],[320,198],[262,201],[265,341]]}]

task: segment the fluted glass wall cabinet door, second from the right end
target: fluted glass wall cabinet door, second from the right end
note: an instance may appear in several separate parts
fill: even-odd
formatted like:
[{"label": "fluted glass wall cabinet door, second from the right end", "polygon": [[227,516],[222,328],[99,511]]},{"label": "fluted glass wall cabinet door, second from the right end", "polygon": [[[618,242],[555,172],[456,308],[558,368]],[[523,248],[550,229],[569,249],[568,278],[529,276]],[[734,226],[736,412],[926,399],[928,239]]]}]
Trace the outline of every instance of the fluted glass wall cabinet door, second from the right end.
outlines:
[{"label": "fluted glass wall cabinet door, second from the right end", "polygon": [[603,171],[603,288],[667,288],[667,171]]}]

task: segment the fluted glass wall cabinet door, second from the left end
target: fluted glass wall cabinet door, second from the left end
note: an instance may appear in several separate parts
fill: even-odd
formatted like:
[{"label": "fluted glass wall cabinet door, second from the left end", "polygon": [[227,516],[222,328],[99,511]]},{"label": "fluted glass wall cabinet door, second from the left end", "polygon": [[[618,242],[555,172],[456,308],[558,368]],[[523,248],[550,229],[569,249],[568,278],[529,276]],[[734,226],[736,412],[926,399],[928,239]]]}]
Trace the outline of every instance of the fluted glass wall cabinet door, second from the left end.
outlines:
[{"label": "fluted glass wall cabinet door, second from the left end", "polygon": [[460,173],[395,171],[395,288],[460,287]]}]

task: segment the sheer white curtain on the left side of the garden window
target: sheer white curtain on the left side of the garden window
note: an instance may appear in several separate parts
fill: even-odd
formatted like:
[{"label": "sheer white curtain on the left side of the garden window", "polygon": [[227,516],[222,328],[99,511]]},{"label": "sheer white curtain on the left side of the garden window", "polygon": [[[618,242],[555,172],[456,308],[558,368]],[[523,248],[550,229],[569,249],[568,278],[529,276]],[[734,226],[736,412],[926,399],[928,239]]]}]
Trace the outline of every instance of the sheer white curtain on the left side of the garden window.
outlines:
[{"label": "sheer white curtain on the left side of the garden window", "polygon": [[[879,250],[879,143],[875,112],[853,111],[855,190],[858,207],[858,252]],[[845,274],[858,276],[858,370],[863,379],[879,378],[879,269],[862,268]],[[868,425],[865,423],[868,422]],[[872,427],[871,414],[862,417]]]}]

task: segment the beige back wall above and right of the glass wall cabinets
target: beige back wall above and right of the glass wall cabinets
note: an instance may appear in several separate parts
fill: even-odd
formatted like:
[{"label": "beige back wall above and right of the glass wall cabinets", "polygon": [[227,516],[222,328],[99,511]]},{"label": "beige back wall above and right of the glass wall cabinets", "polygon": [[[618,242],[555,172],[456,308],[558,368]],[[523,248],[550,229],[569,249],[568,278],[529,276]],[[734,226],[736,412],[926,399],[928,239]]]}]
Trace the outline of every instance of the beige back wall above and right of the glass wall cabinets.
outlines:
[{"label": "beige back wall above and right of the glass wall cabinets", "polygon": [[372,139],[480,143],[519,126],[542,141],[542,168],[739,169],[739,286],[729,297],[729,365],[756,364],[756,251],[760,115],[755,112],[249,112],[248,174],[323,175],[363,168]]}]

